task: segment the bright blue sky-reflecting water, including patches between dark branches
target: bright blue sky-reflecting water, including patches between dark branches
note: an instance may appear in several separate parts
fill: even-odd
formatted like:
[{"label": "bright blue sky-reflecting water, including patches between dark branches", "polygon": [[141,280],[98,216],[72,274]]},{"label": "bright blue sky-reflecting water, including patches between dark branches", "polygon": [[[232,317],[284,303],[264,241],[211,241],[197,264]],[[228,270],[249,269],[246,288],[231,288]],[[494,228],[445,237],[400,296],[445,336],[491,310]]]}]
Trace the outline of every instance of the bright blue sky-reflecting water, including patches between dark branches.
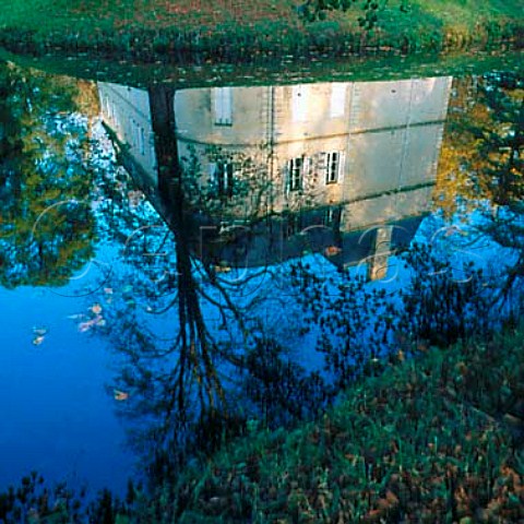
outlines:
[{"label": "bright blue sky-reflecting water, including patches between dark branches", "polygon": [[[96,126],[94,129],[96,131]],[[172,276],[177,267],[172,235],[168,235],[169,229],[151,204],[140,199],[140,205],[134,202],[136,188],[131,182],[122,182],[112,145],[104,130],[98,129],[98,135],[95,132],[94,136],[99,141],[100,151],[95,147],[92,159],[92,167],[96,167],[93,201],[84,200],[81,204],[90,206],[98,223],[95,257],[63,287],[0,288],[0,492],[36,471],[51,484],[64,480],[71,488],[87,486],[92,493],[109,488],[116,495],[123,495],[128,478],[136,477],[140,472],[134,469],[135,457],[126,446],[126,422],[118,417],[117,408],[131,409],[140,402],[126,403],[127,395],[133,398],[131,389],[115,393],[122,388],[121,377],[118,378],[122,355],[126,349],[135,350],[136,355],[145,349],[141,347],[145,338],[139,335],[151,335],[155,349],[162,353],[171,346],[180,329],[176,307],[167,306],[177,289],[163,282]],[[432,147],[437,153],[440,147],[437,139]],[[391,158],[397,154],[394,150]],[[377,166],[379,169],[380,165]],[[370,164],[370,167],[373,166]],[[118,194],[114,202],[111,194]],[[429,199],[429,193],[427,196]],[[388,201],[381,202],[370,205],[369,224],[364,221],[361,226],[369,226],[367,233],[376,228],[376,207]],[[401,209],[403,202],[392,200],[390,205]],[[429,200],[418,204],[420,209],[414,205],[413,210],[404,210],[406,217],[420,214],[418,222],[415,221],[413,237],[407,235],[409,241],[406,240],[405,247],[412,240],[430,245],[440,259],[453,262],[456,274],[450,273],[450,278],[462,278],[461,267],[465,261],[473,261],[477,267],[496,275],[503,273],[501,262],[508,263],[511,253],[501,251],[495,242],[477,241],[483,238],[475,233],[479,217],[472,214],[465,222],[458,218],[448,222],[438,214],[425,216],[430,209]],[[398,216],[404,213],[401,211]],[[357,263],[357,255],[366,257],[368,252],[360,240],[356,242],[355,235],[348,235],[346,242],[356,253],[348,257],[346,272],[366,277],[367,267]],[[358,236],[364,238],[365,233]],[[155,241],[148,246],[148,240]],[[168,255],[159,257],[164,251]],[[290,248],[288,251],[295,252]],[[285,252],[283,246],[283,261]],[[336,279],[337,267],[321,252],[302,254],[302,263],[324,281],[323,296],[336,298],[341,284]],[[299,257],[299,252],[295,257]],[[257,266],[228,267],[221,278],[229,286],[227,293],[233,303],[252,315],[250,325],[263,325],[265,333],[279,341],[291,358],[311,371],[322,369],[324,356],[314,350],[320,327],[313,324],[309,332],[302,333],[307,321],[299,300],[301,291],[290,284],[291,266],[299,260],[272,262],[263,271]],[[223,296],[200,270],[200,262],[194,262],[196,285],[212,298],[202,299],[200,305],[206,327],[218,342],[234,348],[243,347],[241,330],[233,322],[226,325],[216,306],[223,303]],[[398,290],[409,284],[409,276],[402,258],[391,255],[386,274],[369,283],[368,289],[384,289],[389,300],[400,309]],[[253,298],[258,300],[251,307]],[[335,302],[325,301],[327,306],[332,303]],[[133,330],[136,338],[128,338]],[[361,340],[370,340],[372,330],[372,324],[362,329]],[[128,342],[130,347],[126,347]],[[120,356],[117,355],[119,346],[123,349]],[[172,369],[177,355],[169,355],[151,364],[153,371],[160,367],[166,372]],[[231,379],[235,382],[237,377]],[[142,422],[142,419],[138,421]]]}]

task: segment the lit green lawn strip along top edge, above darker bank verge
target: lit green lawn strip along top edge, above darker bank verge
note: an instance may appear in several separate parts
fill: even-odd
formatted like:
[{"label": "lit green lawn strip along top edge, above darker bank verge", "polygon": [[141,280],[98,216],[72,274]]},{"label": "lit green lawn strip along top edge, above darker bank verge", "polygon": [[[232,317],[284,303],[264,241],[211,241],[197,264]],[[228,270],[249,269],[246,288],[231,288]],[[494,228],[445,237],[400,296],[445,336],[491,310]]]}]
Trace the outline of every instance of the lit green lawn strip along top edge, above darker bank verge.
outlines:
[{"label": "lit green lawn strip along top edge, above darker bank verge", "polygon": [[[223,25],[243,26],[259,22],[279,21],[290,26],[299,24],[296,8],[300,0],[2,0],[0,1],[0,23],[25,28],[78,29],[97,27],[178,27],[194,29],[201,25],[210,28]],[[402,25],[439,21],[443,25],[474,27],[481,19],[522,19],[521,0],[414,0],[413,12],[400,13],[398,0],[392,0],[385,16],[393,16]],[[353,24],[361,14],[358,3],[346,15],[330,14],[332,20]]]}]

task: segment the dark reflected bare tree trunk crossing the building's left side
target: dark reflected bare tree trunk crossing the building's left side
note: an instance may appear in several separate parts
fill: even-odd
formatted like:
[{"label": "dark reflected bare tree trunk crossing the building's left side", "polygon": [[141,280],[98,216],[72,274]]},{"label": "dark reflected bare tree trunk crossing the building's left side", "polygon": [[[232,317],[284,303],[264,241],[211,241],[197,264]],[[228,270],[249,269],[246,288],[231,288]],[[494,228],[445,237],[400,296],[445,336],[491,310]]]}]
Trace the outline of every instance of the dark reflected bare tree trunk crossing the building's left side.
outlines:
[{"label": "dark reflected bare tree trunk crossing the building's left side", "polygon": [[175,235],[177,255],[179,366],[177,376],[172,377],[175,383],[169,388],[169,406],[172,412],[177,405],[178,415],[184,418],[192,385],[196,386],[201,413],[215,410],[217,403],[224,400],[224,391],[213,362],[214,343],[205,325],[199,283],[192,267],[190,239],[194,224],[187,210],[182,166],[178,157],[175,90],[155,85],[150,87],[148,94],[160,204]]}]

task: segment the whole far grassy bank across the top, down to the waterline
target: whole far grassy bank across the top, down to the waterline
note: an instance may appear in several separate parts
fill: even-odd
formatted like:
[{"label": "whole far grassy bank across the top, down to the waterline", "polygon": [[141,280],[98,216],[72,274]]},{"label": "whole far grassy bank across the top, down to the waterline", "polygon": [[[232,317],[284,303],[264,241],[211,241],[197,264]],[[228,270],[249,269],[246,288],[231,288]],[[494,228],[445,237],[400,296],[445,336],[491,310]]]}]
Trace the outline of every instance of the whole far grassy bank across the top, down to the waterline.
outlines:
[{"label": "whole far grassy bank across the top, down to the waterline", "polygon": [[87,52],[145,62],[262,61],[294,55],[446,51],[522,46],[521,0],[392,0],[362,32],[359,2],[305,23],[300,0],[0,0],[0,45],[19,52]]}]

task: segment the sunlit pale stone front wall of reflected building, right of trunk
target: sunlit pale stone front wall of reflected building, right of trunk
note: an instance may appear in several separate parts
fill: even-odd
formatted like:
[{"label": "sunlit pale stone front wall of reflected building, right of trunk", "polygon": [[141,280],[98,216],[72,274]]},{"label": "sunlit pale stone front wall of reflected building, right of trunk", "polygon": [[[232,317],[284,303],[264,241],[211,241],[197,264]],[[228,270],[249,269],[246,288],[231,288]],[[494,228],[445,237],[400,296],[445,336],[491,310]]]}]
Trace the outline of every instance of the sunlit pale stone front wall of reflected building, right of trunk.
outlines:
[{"label": "sunlit pale stone front wall of reflected building, right of trunk", "polygon": [[[269,166],[276,212],[365,199],[434,181],[450,87],[450,78],[228,87],[227,124],[215,123],[225,92],[186,90],[175,104],[180,148],[212,144]],[[326,184],[330,152],[343,169]],[[305,159],[301,192],[286,191],[293,158]],[[205,155],[202,167],[206,177]]]}]

